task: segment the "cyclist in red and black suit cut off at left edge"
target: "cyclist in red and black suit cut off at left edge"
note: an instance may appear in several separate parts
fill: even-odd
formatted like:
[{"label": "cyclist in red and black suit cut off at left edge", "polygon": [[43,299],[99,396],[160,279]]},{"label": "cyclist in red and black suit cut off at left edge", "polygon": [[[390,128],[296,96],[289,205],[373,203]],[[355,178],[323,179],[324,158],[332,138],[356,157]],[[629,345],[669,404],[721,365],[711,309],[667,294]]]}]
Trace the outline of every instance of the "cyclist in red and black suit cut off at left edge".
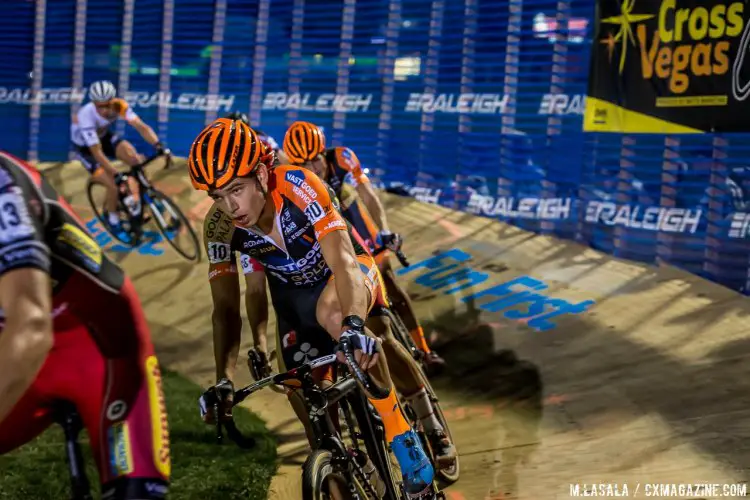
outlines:
[{"label": "cyclist in red and black suit cut off at left edge", "polygon": [[0,153],[0,454],[76,406],[102,498],[165,498],[169,429],[135,288],[40,172]]}]

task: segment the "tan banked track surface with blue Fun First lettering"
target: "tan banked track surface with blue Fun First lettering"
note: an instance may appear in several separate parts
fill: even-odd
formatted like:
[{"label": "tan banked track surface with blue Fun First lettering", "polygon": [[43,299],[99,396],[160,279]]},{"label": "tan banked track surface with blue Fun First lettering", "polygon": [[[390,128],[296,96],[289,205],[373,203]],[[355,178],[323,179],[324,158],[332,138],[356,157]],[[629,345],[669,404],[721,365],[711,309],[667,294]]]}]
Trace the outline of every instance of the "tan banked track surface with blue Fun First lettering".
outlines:
[{"label": "tan banked track surface with blue Fun First lettering", "polygon": [[[41,168],[91,220],[83,168]],[[152,178],[200,227],[209,202],[184,170]],[[408,198],[385,201],[412,262],[400,279],[450,363],[434,382],[461,454],[448,498],[569,498],[570,485],[598,483],[627,486],[631,496],[640,484],[645,496],[647,483],[745,482],[747,298],[673,268]],[[161,362],[213,382],[205,256],[187,263],[163,242],[106,248],[138,288]],[[424,262],[440,251],[450,253]],[[564,307],[580,312],[550,314]],[[242,353],[249,332],[243,338]],[[238,382],[249,382],[239,371]],[[265,390],[248,406],[280,443],[270,498],[300,498],[306,442],[286,398]]]}]

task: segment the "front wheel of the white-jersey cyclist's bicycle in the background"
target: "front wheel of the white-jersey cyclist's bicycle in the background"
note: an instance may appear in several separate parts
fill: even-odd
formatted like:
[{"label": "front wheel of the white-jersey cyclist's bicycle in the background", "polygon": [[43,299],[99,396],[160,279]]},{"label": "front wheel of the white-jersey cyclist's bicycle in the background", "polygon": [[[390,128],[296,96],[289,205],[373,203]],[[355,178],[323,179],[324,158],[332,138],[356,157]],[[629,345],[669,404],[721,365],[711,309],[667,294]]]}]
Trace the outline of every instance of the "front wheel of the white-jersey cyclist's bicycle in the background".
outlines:
[{"label": "front wheel of the white-jersey cyclist's bicycle in the background", "polygon": [[190,261],[201,259],[201,246],[190,221],[170,198],[156,189],[143,197],[156,227],[177,253]]}]

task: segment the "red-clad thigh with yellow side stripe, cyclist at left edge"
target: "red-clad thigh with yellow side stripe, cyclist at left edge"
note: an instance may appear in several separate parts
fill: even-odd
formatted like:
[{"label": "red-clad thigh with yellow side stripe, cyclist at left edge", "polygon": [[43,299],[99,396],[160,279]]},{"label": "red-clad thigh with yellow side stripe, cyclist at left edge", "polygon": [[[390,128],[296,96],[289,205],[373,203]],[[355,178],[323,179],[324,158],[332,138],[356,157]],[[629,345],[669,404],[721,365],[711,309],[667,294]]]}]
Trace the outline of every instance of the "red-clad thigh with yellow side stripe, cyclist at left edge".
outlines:
[{"label": "red-clad thigh with yellow side stripe, cyclist at left edge", "polygon": [[127,277],[119,293],[94,284],[71,286],[85,296],[91,312],[87,335],[68,359],[86,366],[97,355],[104,358],[100,390],[86,380],[71,389],[97,457],[102,496],[162,499],[171,475],[169,426],[159,362],[135,287]]}]

